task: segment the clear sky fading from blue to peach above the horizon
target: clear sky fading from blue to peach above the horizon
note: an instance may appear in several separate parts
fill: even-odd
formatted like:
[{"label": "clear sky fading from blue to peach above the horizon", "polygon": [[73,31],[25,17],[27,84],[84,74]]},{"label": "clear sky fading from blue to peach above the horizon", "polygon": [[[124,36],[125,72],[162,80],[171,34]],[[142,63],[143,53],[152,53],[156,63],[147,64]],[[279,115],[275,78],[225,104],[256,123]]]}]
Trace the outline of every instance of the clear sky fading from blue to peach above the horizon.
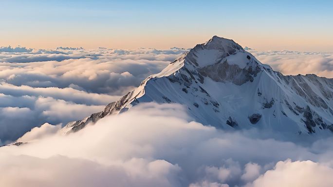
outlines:
[{"label": "clear sky fading from blue to peach above the horizon", "polygon": [[0,46],[190,48],[213,35],[257,50],[333,52],[329,0],[1,0]]}]

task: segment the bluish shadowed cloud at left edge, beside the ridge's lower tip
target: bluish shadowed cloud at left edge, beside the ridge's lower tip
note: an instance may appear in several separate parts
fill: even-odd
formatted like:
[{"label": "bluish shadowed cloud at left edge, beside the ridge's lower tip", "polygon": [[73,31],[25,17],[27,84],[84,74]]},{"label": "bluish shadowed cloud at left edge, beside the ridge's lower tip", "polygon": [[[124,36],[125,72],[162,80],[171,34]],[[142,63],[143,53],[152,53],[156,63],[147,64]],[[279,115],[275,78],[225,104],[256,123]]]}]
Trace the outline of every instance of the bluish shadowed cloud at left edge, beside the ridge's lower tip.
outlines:
[{"label": "bluish shadowed cloud at left edge, beside the ridge's lower tip", "polygon": [[[22,92],[24,93],[24,92]],[[27,92],[26,92],[27,93]],[[67,123],[104,109],[104,105],[77,104],[53,97],[0,94],[0,137],[3,144],[16,140],[45,122]],[[15,122],[15,123],[13,123]]]}]

